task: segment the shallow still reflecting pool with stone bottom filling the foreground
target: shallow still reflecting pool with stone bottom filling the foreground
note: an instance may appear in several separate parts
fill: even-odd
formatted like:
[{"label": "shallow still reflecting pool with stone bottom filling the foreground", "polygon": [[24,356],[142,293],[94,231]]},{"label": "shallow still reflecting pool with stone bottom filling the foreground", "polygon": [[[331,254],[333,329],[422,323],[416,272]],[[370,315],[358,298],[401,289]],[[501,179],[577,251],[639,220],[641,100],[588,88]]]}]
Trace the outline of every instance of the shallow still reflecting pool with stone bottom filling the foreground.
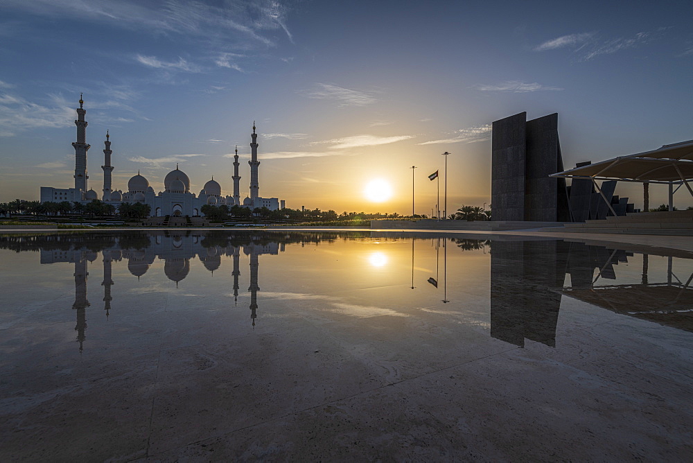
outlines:
[{"label": "shallow still reflecting pool with stone bottom filling the foreground", "polygon": [[0,235],[0,458],[693,457],[690,253],[480,237]]}]

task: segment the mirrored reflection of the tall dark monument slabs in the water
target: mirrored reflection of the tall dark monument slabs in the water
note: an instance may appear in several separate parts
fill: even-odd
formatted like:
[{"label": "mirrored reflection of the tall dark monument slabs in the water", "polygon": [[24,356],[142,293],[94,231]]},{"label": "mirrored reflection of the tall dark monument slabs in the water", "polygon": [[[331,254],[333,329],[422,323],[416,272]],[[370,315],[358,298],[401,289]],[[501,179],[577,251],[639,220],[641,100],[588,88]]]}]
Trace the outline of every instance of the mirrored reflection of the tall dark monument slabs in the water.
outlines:
[{"label": "mirrored reflection of the tall dark monument slabs in the water", "polygon": [[524,347],[525,338],[556,345],[565,278],[563,241],[491,243],[491,336]]}]

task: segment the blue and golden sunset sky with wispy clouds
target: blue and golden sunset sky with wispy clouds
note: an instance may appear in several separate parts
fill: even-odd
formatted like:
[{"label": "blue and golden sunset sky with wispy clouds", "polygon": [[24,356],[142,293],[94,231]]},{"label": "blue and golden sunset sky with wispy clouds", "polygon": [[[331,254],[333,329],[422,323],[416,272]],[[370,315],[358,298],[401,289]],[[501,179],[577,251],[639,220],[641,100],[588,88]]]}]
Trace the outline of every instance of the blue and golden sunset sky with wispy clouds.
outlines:
[{"label": "blue and golden sunset sky with wispy clouds", "polygon": [[[89,188],[179,164],[293,209],[431,213],[489,204],[491,123],[559,113],[565,168],[693,139],[690,1],[0,3],[0,201],[73,186],[84,94]],[[447,157],[447,181],[443,152]],[[412,169],[412,166],[416,166]],[[392,198],[365,187],[382,180]],[[651,186],[651,206],[667,187]],[[640,184],[616,194],[642,206]],[[380,198],[381,200],[383,198]],[[656,204],[655,204],[656,203]],[[687,191],[675,204],[693,204]]]}]

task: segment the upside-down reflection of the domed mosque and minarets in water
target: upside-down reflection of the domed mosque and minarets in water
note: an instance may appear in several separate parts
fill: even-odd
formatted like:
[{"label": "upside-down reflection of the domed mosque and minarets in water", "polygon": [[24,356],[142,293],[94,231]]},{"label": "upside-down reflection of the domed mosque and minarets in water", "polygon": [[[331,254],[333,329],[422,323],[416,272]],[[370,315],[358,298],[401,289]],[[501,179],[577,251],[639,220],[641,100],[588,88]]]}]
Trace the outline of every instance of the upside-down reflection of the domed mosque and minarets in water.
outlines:
[{"label": "upside-down reflection of the domed mosque and minarets in water", "polygon": [[[87,299],[87,271],[88,263],[96,261],[98,253],[89,249],[89,243],[72,241],[72,245],[62,246],[60,249],[41,247],[41,263],[50,264],[69,262],[75,265],[75,302],[72,306],[77,311],[76,340],[80,343],[80,352],[86,339],[87,308],[91,306]],[[99,243],[96,242],[98,245]],[[94,247],[94,246],[92,246]],[[262,254],[279,254],[285,249],[284,243],[267,241],[261,236],[247,235],[243,237],[229,235],[204,235],[182,232],[170,234],[168,231],[149,234],[125,235],[122,238],[113,239],[108,245],[100,245],[103,256],[103,302],[106,317],[111,311],[111,287],[112,263],[114,261],[127,261],[130,273],[140,279],[148,272],[156,259],[164,260],[164,274],[170,281],[175,282],[176,288],[180,281],[185,279],[190,272],[190,261],[197,257],[204,268],[212,274],[221,265],[222,256],[233,259],[233,289],[234,304],[238,304],[238,290],[240,289],[240,254],[249,256],[249,287],[250,292],[250,319],[255,326],[257,318],[257,292],[260,290],[258,283],[258,256]]]}]

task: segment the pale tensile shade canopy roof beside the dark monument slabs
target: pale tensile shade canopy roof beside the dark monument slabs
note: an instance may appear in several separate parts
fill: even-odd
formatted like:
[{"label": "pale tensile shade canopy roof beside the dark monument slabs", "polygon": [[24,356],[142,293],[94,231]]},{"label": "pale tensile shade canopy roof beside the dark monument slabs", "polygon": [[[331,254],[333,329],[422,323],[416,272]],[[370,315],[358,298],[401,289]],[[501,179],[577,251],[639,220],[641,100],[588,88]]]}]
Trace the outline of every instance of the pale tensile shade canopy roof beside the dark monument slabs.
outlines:
[{"label": "pale tensile shade canopy roof beside the dark monument slabs", "polygon": [[572,168],[569,171],[551,174],[550,177],[682,183],[693,180],[693,140]]}]

